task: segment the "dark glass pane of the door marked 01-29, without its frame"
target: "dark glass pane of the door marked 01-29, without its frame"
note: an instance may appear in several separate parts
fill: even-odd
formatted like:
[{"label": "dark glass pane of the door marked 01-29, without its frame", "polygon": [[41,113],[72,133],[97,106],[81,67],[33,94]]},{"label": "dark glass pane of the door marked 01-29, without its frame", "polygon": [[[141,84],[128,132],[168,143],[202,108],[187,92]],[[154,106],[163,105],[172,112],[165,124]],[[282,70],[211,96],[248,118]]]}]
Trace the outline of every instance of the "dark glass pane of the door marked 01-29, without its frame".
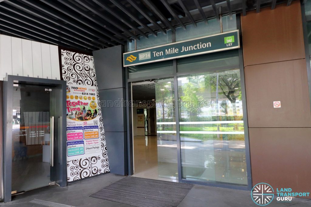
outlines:
[{"label": "dark glass pane of the door marked 01-29, without its frame", "polygon": [[14,84],[12,191],[26,191],[55,181],[55,107],[55,88]]}]

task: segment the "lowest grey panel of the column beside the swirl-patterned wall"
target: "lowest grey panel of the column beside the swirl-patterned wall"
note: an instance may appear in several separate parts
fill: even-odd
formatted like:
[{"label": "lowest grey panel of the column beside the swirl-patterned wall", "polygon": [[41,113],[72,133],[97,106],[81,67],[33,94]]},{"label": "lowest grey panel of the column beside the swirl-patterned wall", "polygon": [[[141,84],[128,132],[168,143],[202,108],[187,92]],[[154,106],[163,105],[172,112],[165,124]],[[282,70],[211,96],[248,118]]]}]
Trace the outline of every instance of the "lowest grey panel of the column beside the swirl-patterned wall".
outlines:
[{"label": "lowest grey panel of the column beside the swirl-patterned wall", "polygon": [[126,132],[105,132],[110,172],[127,175]]}]

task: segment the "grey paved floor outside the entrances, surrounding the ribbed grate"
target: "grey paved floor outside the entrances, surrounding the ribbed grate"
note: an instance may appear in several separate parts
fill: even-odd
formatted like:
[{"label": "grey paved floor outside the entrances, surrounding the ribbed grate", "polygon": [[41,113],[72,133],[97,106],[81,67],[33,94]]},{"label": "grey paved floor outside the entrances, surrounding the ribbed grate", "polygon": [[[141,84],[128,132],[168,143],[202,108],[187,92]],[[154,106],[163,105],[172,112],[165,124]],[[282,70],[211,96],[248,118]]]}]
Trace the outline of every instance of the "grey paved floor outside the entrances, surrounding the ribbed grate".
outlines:
[{"label": "grey paved floor outside the entrances, surrounding the ribbed grate", "polygon": [[[124,176],[112,173],[100,175],[94,178],[88,178],[69,184],[67,187],[61,188],[57,185],[38,188],[27,191],[23,194],[13,196],[12,202],[0,203],[9,207],[38,207],[43,205],[29,203],[33,199],[51,201],[54,203],[65,204],[70,206],[88,206],[88,207],[130,207],[122,203],[116,203],[108,200],[102,200],[89,197],[92,193],[99,191],[103,187],[118,181]],[[180,203],[179,207],[243,207],[258,206],[253,203],[250,192],[231,190],[218,187],[195,185],[188,195]],[[293,198],[291,203],[277,203],[273,200],[267,207],[278,206],[294,206],[294,207],[311,207],[311,199]]]}]

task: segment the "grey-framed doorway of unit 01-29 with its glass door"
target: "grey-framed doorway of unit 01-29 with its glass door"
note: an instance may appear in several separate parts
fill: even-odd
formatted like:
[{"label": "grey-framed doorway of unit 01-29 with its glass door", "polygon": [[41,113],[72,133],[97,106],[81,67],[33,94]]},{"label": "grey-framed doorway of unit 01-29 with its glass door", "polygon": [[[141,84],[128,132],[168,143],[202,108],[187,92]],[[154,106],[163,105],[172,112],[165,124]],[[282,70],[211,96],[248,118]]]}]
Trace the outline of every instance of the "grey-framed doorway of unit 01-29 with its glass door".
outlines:
[{"label": "grey-framed doorway of unit 01-29 with its glass door", "polygon": [[66,186],[66,82],[8,76],[4,86],[5,202],[11,194]]}]

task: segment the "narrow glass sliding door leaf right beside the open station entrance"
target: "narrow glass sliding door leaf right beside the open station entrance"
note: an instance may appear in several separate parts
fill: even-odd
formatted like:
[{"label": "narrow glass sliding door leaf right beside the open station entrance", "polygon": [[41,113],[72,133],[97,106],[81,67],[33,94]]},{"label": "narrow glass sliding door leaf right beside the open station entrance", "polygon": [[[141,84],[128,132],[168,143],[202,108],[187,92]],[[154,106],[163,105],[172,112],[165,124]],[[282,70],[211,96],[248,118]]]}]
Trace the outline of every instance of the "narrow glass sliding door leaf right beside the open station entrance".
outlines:
[{"label": "narrow glass sliding door leaf right beside the open station entrance", "polygon": [[174,79],[156,81],[158,173],[178,179]]}]

